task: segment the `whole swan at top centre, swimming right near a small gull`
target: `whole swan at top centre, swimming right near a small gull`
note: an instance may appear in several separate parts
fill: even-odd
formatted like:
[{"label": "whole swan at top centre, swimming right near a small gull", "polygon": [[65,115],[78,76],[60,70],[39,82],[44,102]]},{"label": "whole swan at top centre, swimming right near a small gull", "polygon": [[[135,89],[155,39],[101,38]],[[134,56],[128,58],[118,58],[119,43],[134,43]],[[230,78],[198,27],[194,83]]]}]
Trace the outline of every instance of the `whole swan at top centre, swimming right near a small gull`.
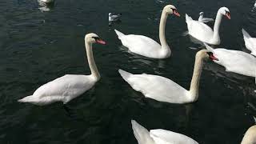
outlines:
[{"label": "whole swan at top centre, swimming right near a small gull", "polygon": [[139,54],[148,58],[168,58],[170,57],[170,47],[166,42],[166,19],[168,14],[175,14],[178,17],[178,11],[175,6],[167,5],[162,10],[162,16],[159,25],[159,38],[161,45],[153,39],[143,35],[122,34],[118,30],[114,30],[121,40],[122,45],[126,46],[131,52]]}]

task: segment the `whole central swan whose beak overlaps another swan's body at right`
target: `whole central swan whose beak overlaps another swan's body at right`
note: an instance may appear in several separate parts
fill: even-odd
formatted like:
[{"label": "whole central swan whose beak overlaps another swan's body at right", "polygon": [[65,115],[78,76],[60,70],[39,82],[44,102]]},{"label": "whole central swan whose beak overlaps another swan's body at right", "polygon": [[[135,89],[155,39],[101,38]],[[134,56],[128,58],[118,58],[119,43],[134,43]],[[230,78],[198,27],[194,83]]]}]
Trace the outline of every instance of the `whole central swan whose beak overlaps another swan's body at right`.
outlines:
[{"label": "whole central swan whose beak overlaps another swan's body at right", "polygon": [[199,80],[202,72],[203,60],[214,58],[209,50],[200,50],[195,56],[194,73],[190,84],[190,90],[184,89],[177,83],[168,78],[151,74],[130,74],[124,70],[118,70],[122,78],[130,84],[130,86],[142,94],[146,98],[152,98],[159,102],[170,103],[189,103],[198,99]]}]

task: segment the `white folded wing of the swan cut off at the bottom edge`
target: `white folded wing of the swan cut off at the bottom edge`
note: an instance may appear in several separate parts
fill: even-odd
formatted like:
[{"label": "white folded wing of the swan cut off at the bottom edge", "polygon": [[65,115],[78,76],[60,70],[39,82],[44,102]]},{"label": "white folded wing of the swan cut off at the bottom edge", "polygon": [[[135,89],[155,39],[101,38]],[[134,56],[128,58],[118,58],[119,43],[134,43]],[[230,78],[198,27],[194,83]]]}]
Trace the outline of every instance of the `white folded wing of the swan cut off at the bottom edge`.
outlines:
[{"label": "white folded wing of the swan cut off at the bottom edge", "polygon": [[198,144],[194,139],[184,134],[174,133],[169,130],[150,130],[150,136],[158,144]]}]

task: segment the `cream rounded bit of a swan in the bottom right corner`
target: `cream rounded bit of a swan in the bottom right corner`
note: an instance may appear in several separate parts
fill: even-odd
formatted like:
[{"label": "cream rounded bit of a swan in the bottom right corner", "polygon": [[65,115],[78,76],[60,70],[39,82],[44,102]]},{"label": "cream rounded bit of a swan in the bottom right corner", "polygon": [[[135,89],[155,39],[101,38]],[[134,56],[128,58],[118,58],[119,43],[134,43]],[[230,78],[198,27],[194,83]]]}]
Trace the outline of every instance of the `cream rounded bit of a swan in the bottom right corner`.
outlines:
[{"label": "cream rounded bit of a swan in the bottom right corner", "polygon": [[256,143],[256,126],[250,126],[246,134],[242,138],[241,144],[255,144]]}]

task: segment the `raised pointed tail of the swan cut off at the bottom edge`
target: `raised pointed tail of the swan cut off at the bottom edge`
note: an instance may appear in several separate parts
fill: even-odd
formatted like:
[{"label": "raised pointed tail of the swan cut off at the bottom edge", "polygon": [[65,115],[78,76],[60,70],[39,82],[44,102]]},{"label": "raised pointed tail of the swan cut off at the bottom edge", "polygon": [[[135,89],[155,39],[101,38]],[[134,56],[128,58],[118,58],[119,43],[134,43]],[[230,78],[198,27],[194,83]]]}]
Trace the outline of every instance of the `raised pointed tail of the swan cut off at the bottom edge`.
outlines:
[{"label": "raised pointed tail of the swan cut off at the bottom edge", "polygon": [[138,144],[154,144],[154,140],[150,137],[150,132],[138,122],[131,120],[131,125],[134,130],[134,136]]}]

